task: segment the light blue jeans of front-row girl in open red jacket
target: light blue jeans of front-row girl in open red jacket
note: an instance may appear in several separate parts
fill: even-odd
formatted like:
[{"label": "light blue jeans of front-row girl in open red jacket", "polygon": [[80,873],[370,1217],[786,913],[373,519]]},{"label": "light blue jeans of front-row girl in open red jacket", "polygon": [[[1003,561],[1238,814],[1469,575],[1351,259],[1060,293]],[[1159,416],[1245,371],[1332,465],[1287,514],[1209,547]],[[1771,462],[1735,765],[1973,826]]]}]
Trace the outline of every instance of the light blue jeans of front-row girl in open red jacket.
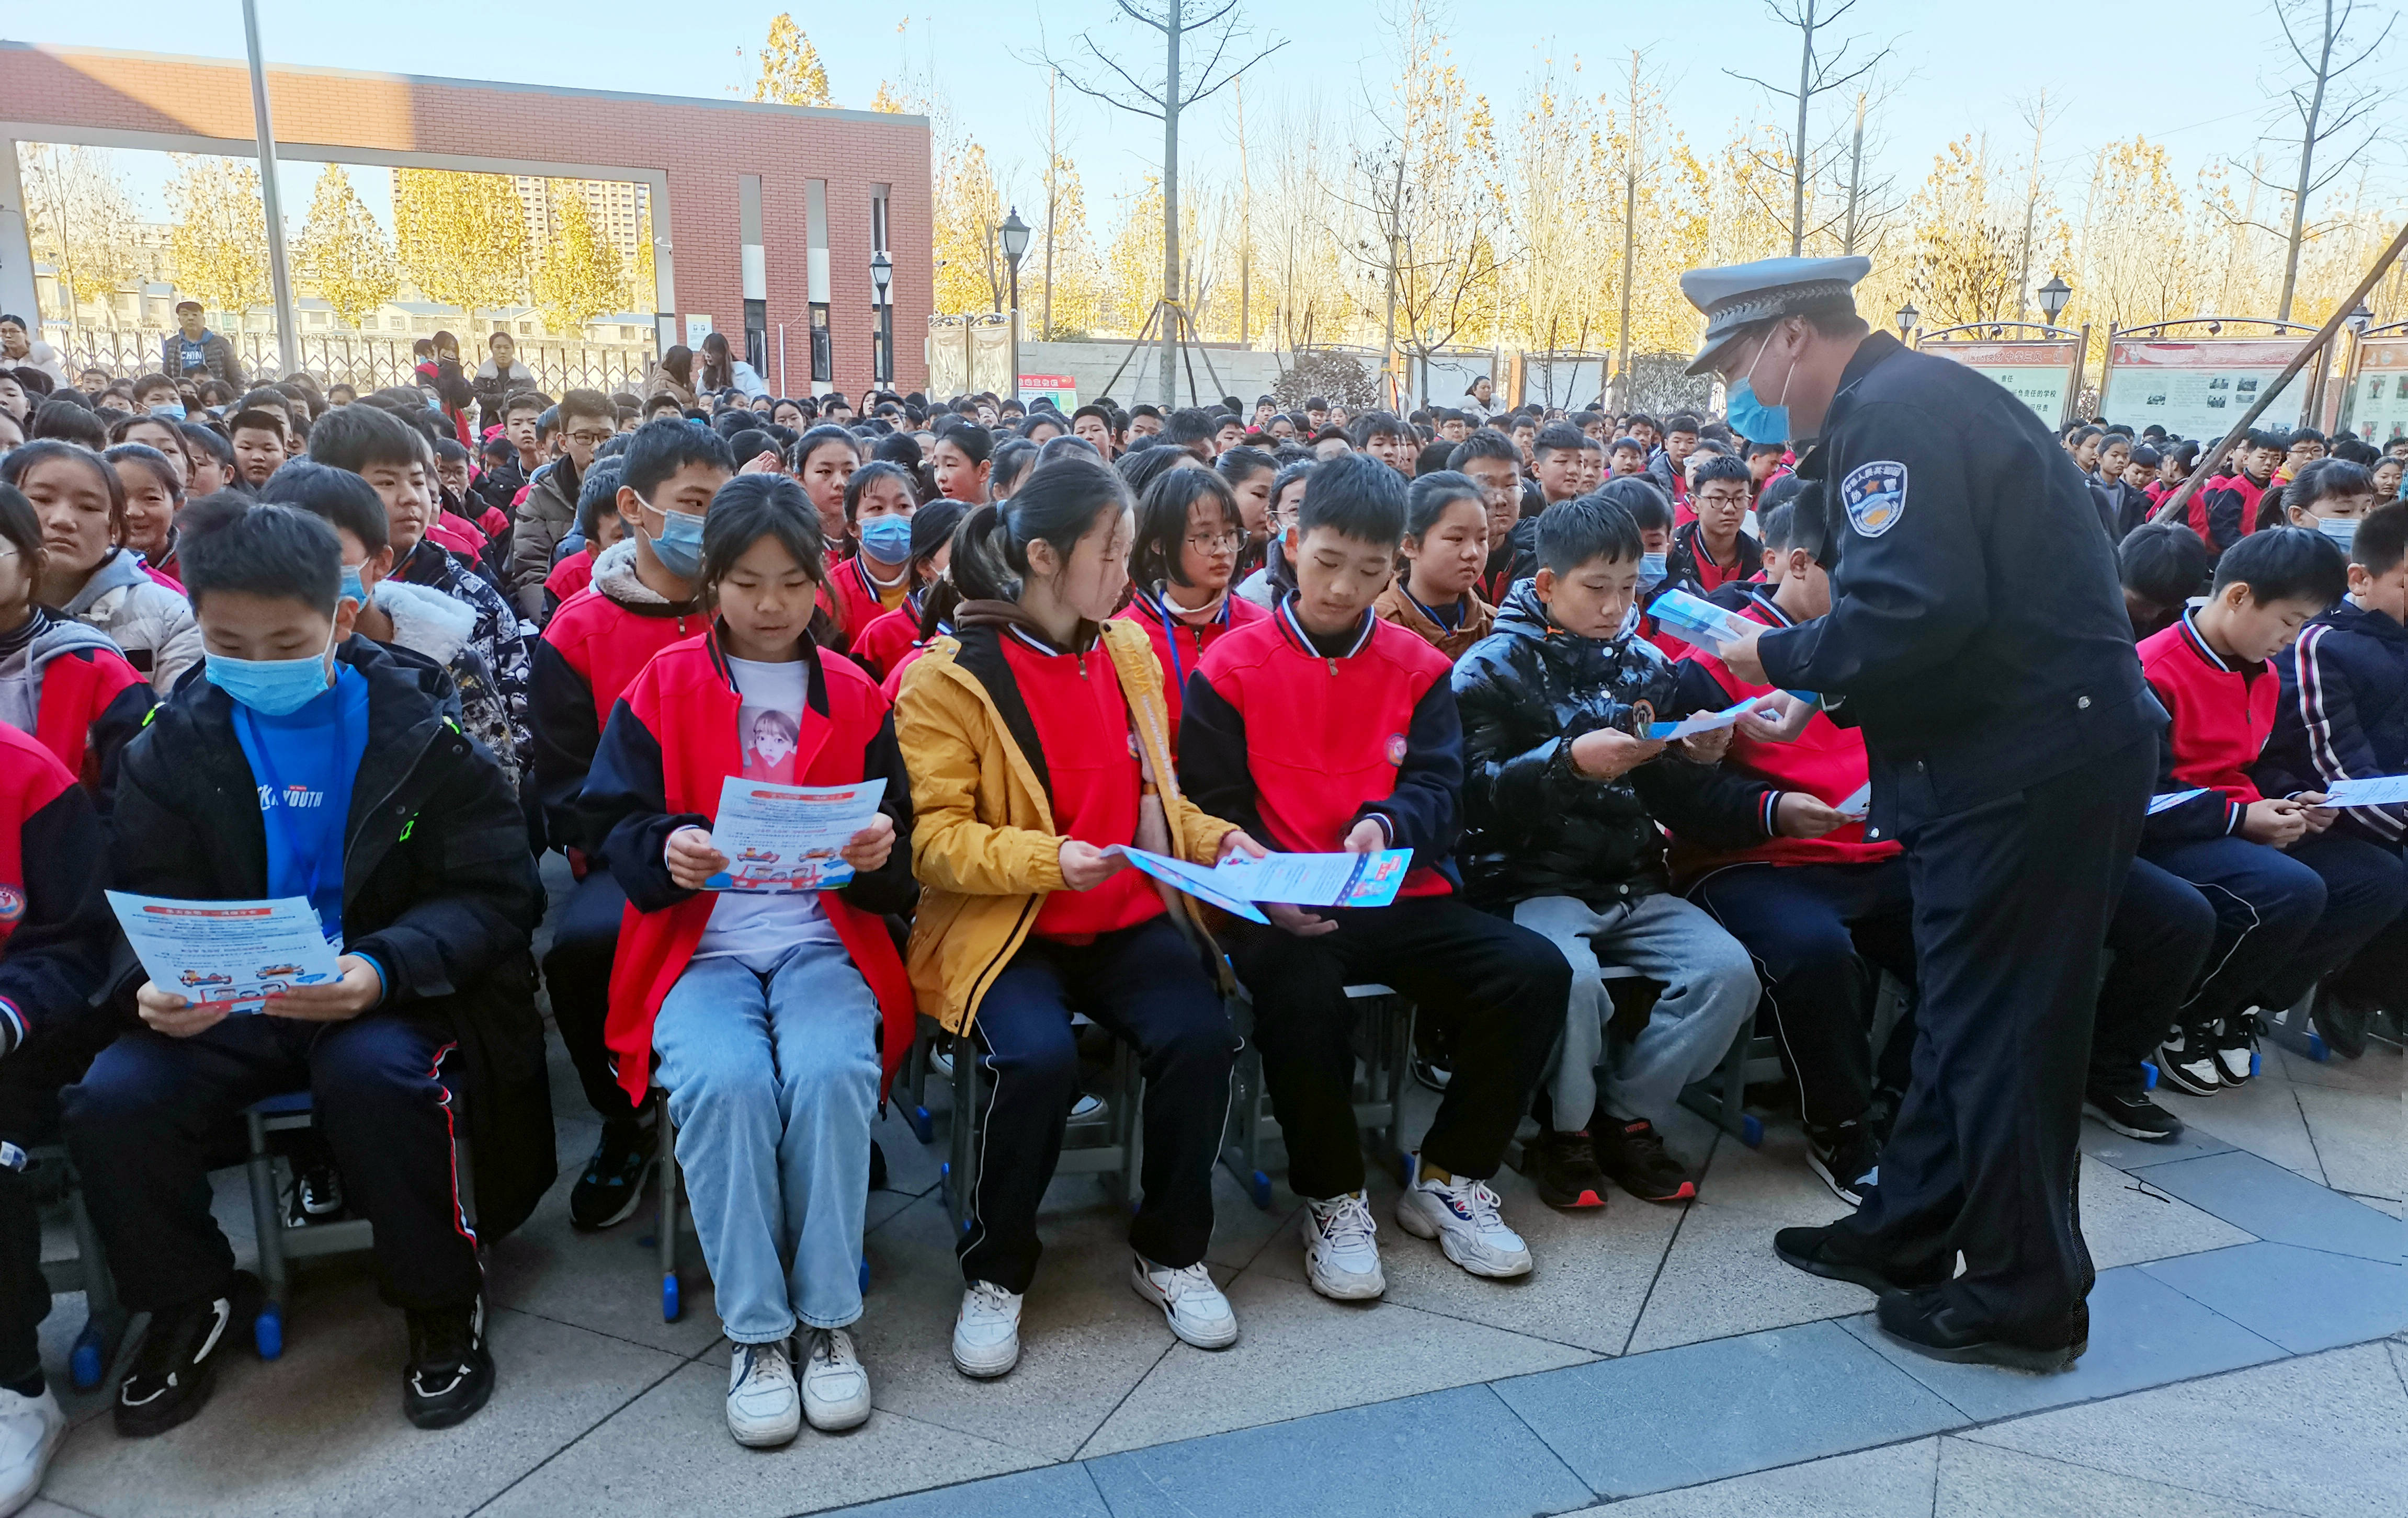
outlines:
[{"label": "light blue jeans of front-row girl in open red jacket", "polygon": [[768,974],[694,960],[660,1003],[677,1164],[739,1345],[862,1316],[877,1034],[877,998],[840,943],[797,943]]}]

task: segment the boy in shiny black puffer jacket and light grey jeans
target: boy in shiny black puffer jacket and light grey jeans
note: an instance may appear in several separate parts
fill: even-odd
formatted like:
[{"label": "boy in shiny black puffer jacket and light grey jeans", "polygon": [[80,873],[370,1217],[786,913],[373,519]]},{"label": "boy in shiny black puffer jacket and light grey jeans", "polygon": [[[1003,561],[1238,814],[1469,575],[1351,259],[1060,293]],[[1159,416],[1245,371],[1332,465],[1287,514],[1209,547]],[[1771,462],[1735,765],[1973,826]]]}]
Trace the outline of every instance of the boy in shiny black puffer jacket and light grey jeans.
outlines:
[{"label": "boy in shiny black puffer jacket and light grey jeans", "polygon": [[[1637,575],[1630,512],[1599,496],[1556,503],[1539,517],[1539,573],[1454,666],[1464,890],[1572,965],[1544,1138],[1527,1160],[1558,1208],[1604,1205],[1599,1172],[1642,1200],[1698,1193],[1654,1121],[1722,1063],[1760,996],[1748,950],[1671,893],[1657,816],[1727,849],[1782,823],[1837,825],[1828,808],[1782,808],[1770,787],[1727,777],[1712,765],[1727,746],[1717,734],[1683,739],[1678,755],[1647,739],[1676,681],[1662,652],[1623,630]],[[1609,1046],[1601,965],[1664,984],[1628,1044]]]}]

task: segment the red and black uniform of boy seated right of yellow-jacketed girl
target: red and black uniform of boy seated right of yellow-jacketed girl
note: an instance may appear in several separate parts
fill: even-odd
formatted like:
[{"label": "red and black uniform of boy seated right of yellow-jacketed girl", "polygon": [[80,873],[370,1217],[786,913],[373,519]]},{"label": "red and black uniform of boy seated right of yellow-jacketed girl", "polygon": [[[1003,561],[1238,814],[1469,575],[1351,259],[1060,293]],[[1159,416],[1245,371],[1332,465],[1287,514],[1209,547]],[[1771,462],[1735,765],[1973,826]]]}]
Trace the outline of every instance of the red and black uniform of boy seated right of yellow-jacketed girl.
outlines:
[{"label": "red and black uniform of boy seated right of yellow-jacketed girl", "polygon": [[1452,1037],[1454,1078],[1423,1157],[1459,1176],[1498,1172],[1563,1030],[1572,972],[1556,945],[1457,897],[1464,734],[1450,674],[1445,654],[1370,611],[1312,638],[1288,597],[1214,642],[1187,686],[1180,784],[1197,806],[1271,849],[1339,852],[1373,818],[1413,852],[1397,900],[1334,909],[1334,933],[1230,924],[1298,1196],[1363,1186],[1351,982],[1397,986]]}]

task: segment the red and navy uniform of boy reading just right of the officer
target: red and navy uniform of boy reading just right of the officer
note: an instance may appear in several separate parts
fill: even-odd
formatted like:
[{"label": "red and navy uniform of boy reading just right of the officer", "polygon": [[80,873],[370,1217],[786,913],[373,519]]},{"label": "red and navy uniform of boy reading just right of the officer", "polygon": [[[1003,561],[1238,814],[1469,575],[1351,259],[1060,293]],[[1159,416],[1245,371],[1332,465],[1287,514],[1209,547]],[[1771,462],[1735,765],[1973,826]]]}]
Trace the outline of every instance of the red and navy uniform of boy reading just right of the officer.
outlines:
[{"label": "red and navy uniform of boy reading just right of the officer", "polygon": [[2182,1008],[2191,1034],[2249,1044],[2251,1006],[2290,1006],[2357,953],[2408,900],[2396,854],[2345,830],[2273,849],[2239,837],[2259,784],[2251,770],[2276,727],[2283,681],[2266,662],[2218,654],[2199,613],[2141,640],[2141,671],[2174,722],[2162,739],[2158,794],[2206,789],[2143,823],[2141,859],[2201,888],[2215,907],[2206,979]]}]

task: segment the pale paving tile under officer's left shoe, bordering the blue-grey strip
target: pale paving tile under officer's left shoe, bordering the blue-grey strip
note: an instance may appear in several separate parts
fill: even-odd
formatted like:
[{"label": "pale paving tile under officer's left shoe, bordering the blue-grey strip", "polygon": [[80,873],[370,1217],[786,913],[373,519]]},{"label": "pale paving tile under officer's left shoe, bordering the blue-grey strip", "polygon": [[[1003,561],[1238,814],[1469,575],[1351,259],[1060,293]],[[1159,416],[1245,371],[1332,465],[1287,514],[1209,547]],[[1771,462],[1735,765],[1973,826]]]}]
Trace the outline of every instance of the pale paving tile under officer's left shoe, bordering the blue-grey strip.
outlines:
[{"label": "pale paving tile under officer's left shoe, bordering the blue-grey strip", "polygon": [[[1613,1205],[1640,1203],[1616,1196]],[[1806,1169],[1806,1138],[1794,1123],[1770,1126],[1758,1150],[1717,1145],[1630,1352],[1861,1314],[1873,1301],[1869,1292],[1792,1270],[1772,1253],[1777,1229],[1845,1212],[1847,1203]]]}]

